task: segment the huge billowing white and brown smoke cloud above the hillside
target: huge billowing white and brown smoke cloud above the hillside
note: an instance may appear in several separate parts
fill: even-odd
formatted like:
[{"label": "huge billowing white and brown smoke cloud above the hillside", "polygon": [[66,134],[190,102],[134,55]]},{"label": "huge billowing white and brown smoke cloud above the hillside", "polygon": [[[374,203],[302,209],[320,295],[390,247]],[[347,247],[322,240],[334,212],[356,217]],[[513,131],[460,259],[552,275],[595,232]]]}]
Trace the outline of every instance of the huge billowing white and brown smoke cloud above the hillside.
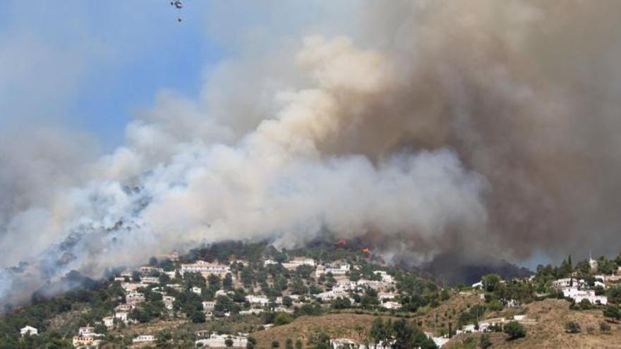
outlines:
[{"label": "huge billowing white and brown smoke cloud above the hillside", "polygon": [[345,36],[275,39],[220,66],[199,101],[162,92],[95,161],[3,144],[0,267],[18,267],[0,299],[238,238],[363,238],[414,263],[615,252],[620,10],[356,4]]}]

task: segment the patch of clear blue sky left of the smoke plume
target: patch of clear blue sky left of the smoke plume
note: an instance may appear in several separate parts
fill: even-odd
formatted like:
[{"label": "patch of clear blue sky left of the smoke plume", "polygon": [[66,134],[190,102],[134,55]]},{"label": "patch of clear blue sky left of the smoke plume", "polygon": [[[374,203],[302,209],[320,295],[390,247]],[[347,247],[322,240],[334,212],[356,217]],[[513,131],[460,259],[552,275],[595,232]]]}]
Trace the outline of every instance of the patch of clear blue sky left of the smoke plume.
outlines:
[{"label": "patch of clear blue sky left of the smoke plume", "polygon": [[5,0],[0,11],[0,127],[62,125],[105,149],[157,92],[193,97],[225,52],[206,1]]}]

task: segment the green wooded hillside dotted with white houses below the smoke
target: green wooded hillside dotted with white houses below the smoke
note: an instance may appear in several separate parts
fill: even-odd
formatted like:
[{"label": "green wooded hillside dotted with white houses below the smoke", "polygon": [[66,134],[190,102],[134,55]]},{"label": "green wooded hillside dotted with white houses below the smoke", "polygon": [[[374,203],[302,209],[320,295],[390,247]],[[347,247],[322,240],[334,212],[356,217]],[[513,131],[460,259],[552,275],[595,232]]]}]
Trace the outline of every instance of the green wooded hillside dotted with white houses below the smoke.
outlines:
[{"label": "green wooded hillside dotted with white houses below the smoke", "polygon": [[[152,257],[111,272],[92,290],[41,300],[54,305],[46,319],[23,314],[40,305],[13,310],[0,348],[44,348],[51,339],[54,348],[488,348],[498,333],[507,343],[527,337],[540,326],[528,305],[548,298],[574,312],[599,312],[601,333],[621,319],[618,258],[573,266],[569,257],[529,278],[488,274],[471,286],[442,288],[345,244],[286,251],[225,243]],[[318,327],[276,339],[279,326],[339,314],[361,322],[355,331]],[[567,333],[580,331],[580,324],[567,326]]]}]

